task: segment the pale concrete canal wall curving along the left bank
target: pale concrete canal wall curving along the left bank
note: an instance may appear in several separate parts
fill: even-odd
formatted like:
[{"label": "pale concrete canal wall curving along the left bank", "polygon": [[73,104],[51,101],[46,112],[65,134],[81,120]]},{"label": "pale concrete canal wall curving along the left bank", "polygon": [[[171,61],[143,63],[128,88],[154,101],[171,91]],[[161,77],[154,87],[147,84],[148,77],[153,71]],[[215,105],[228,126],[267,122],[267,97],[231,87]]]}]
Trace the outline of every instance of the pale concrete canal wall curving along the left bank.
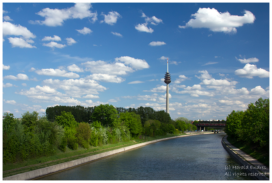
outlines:
[{"label": "pale concrete canal wall curving along the left bank", "polygon": [[[213,132],[211,132],[211,133],[213,133]],[[187,135],[180,135],[180,136],[172,136],[172,137],[167,137],[167,138],[163,138],[163,139],[157,139],[157,140],[152,140],[152,141],[148,141],[148,142],[143,142],[143,143],[135,144],[135,145],[132,145],[132,146],[127,146],[127,147],[123,147],[123,148],[120,148],[120,149],[115,149],[115,150],[112,150],[112,151],[103,152],[103,153],[100,153],[100,154],[88,156],[88,157],[85,157],[85,158],[76,159],[76,160],[73,160],[73,161],[64,162],[64,163],[48,166],[48,167],[37,169],[37,170],[32,170],[30,172],[24,172],[24,173],[20,173],[20,174],[17,174],[17,175],[12,175],[12,176],[3,178],[3,180],[31,180],[31,179],[34,179],[34,178],[42,177],[44,175],[49,175],[51,173],[55,173],[55,172],[59,172],[59,171],[65,170],[65,169],[70,169],[70,168],[73,168],[73,167],[76,167],[76,166],[79,166],[79,165],[83,165],[85,163],[89,163],[89,162],[92,162],[94,160],[105,158],[107,156],[112,156],[112,155],[118,154],[120,152],[125,152],[125,151],[128,151],[130,149],[145,146],[147,144],[156,143],[156,142],[159,142],[159,141],[162,141],[162,140],[169,140],[169,139],[173,139],[173,138],[179,138],[179,137],[191,136],[191,135],[199,135],[199,134],[203,134],[203,133],[194,133],[194,134],[187,134]],[[204,134],[209,134],[209,132],[204,133]]]}]

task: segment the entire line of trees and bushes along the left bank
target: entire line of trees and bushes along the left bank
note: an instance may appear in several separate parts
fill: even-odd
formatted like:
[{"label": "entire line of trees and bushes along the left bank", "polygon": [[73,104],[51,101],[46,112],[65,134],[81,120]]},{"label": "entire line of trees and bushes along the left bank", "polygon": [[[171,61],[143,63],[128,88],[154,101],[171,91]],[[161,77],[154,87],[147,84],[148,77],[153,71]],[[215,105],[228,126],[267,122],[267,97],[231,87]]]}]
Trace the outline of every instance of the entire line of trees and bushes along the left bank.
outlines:
[{"label": "entire line of trees and bushes along the left bank", "polygon": [[47,108],[43,117],[36,111],[22,114],[21,120],[10,113],[4,115],[3,163],[51,156],[67,148],[88,149],[143,136],[196,130],[187,118],[172,120],[165,111],[150,107],[55,106]]}]

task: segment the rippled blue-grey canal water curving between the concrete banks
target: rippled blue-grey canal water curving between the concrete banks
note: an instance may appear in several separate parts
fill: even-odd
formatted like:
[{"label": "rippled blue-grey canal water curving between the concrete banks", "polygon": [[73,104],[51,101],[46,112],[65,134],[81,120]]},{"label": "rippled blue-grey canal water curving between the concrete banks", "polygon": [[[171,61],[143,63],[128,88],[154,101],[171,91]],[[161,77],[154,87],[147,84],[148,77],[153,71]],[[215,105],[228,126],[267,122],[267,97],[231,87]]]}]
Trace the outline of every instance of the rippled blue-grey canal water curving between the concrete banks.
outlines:
[{"label": "rippled blue-grey canal water curving between the concrete banks", "polygon": [[36,180],[252,180],[221,144],[225,133],[142,146]]}]

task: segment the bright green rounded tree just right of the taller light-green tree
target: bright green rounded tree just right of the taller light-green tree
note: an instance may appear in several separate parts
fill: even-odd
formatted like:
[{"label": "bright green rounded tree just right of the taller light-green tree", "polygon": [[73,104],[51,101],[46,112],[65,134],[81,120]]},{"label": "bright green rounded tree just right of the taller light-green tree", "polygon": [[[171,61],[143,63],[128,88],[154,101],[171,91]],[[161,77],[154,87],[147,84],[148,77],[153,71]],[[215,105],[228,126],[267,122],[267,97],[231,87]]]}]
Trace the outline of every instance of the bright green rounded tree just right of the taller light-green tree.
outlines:
[{"label": "bright green rounded tree just right of the taller light-green tree", "polygon": [[142,132],[141,118],[134,112],[125,112],[119,114],[121,125],[128,127],[132,137],[136,138]]}]

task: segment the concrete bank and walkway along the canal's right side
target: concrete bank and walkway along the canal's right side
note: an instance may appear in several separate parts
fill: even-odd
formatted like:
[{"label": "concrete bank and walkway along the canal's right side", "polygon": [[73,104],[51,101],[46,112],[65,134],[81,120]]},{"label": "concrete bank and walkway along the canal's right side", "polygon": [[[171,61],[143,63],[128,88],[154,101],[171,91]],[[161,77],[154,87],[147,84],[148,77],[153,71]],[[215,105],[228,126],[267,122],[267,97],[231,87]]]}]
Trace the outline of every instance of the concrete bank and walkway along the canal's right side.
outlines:
[{"label": "concrete bank and walkway along the canal's right side", "polygon": [[245,169],[248,176],[257,180],[269,180],[269,167],[254,159],[252,156],[236,148],[227,140],[227,135],[222,138],[222,145],[226,151],[241,165],[229,167],[229,169]]}]

